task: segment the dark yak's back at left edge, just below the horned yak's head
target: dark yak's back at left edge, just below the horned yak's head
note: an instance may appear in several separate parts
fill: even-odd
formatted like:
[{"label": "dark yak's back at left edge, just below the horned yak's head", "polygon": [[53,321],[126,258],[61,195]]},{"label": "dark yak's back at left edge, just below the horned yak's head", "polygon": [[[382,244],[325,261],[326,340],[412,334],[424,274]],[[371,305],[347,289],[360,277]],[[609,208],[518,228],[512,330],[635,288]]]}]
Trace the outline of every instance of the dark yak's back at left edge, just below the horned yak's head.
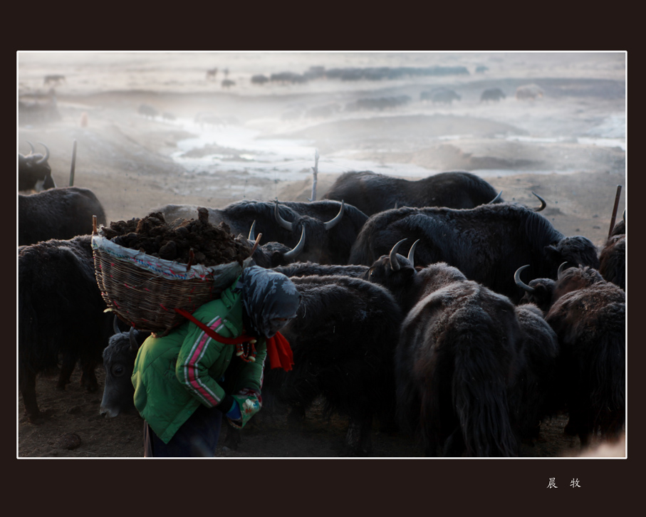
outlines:
[{"label": "dark yak's back at left edge, just below the horned yak's head", "polygon": [[90,189],[56,187],[18,195],[18,245],[92,233],[92,216],[105,224],[103,206]]}]

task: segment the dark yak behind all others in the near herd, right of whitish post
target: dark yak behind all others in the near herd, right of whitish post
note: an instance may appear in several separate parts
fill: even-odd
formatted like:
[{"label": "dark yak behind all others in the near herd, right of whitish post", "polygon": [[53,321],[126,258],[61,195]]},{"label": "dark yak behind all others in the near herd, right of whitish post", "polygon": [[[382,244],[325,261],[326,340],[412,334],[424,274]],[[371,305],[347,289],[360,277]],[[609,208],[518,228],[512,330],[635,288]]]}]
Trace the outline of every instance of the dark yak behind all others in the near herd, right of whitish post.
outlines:
[{"label": "dark yak behind all others in the near herd, right of whitish post", "polygon": [[323,199],[343,200],[371,216],[397,207],[458,209],[502,202],[496,194],[484,179],[466,171],[440,172],[415,181],[360,171],[341,174]]}]

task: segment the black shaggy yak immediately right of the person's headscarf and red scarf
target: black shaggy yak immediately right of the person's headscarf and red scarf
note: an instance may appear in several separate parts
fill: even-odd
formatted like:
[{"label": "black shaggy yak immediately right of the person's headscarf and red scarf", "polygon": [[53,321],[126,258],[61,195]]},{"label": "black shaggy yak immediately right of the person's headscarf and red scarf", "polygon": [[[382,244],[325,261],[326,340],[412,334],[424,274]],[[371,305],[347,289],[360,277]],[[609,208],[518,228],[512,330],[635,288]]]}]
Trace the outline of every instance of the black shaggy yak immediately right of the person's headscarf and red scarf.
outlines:
[{"label": "black shaggy yak immediately right of the person's headscarf and red scarf", "polygon": [[373,419],[392,422],[392,358],[402,312],[382,286],[348,276],[291,277],[301,305],[281,333],[294,355],[290,372],[266,371],[263,390],[304,417],[317,397],[324,413],[349,417],[343,454],[371,453]]}]

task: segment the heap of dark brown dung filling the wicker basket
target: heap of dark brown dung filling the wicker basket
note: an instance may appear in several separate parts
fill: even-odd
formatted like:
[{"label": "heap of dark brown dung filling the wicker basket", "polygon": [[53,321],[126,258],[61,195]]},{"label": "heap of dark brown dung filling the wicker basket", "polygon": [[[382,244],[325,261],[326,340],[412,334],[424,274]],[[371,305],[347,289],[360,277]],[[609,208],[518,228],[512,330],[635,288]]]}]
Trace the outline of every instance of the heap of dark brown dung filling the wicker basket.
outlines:
[{"label": "heap of dark brown dung filling the wicker basket", "polygon": [[233,261],[242,264],[251,254],[249,245],[234,237],[228,224],[209,223],[207,209],[199,208],[197,212],[198,219],[177,219],[172,224],[161,212],[152,212],[143,219],[111,222],[103,228],[103,235],[124,248],[169,261],[203,266]]}]

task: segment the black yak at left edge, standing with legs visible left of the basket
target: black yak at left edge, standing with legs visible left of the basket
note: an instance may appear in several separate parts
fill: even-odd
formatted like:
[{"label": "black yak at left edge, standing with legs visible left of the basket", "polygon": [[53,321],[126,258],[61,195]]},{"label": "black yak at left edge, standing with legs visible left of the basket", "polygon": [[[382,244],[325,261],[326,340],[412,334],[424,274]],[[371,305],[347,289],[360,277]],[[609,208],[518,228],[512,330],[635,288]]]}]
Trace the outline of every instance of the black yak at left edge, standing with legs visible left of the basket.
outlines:
[{"label": "black yak at left edge, standing with legs visible left of the basket", "polygon": [[22,246],[18,254],[18,379],[30,422],[41,412],[36,376],[62,361],[58,388],[77,361],[81,385],[97,389],[95,367],[112,335],[113,316],[96,283],[91,236]]}]

